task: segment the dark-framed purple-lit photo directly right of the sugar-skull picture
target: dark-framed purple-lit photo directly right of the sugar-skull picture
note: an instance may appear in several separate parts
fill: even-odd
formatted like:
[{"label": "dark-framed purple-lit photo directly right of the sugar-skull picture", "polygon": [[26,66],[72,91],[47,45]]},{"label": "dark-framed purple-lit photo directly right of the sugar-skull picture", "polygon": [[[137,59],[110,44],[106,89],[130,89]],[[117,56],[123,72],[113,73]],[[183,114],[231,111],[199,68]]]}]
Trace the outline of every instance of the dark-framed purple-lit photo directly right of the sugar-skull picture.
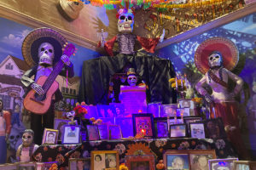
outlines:
[{"label": "dark-framed purple-lit photo directly right of the sugar-skull picture", "polygon": [[168,138],[168,122],[166,117],[154,118],[154,134],[156,138]]}]

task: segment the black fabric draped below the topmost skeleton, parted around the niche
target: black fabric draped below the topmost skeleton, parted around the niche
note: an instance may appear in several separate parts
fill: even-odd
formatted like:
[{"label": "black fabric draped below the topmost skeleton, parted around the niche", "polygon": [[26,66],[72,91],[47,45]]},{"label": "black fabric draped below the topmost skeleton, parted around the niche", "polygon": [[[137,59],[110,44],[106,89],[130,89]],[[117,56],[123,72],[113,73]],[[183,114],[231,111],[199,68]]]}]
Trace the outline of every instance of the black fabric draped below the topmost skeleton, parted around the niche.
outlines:
[{"label": "black fabric draped below the topmost skeleton, parted around the niche", "polygon": [[127,64],[135,68],[137,75],[147,83],[148,102],[176,103],[176,93],[168,81],[175,77],[171,60],[143,53],[102,56],[84,61],[79,101],[92,105],[108,104],[109,79]]}]

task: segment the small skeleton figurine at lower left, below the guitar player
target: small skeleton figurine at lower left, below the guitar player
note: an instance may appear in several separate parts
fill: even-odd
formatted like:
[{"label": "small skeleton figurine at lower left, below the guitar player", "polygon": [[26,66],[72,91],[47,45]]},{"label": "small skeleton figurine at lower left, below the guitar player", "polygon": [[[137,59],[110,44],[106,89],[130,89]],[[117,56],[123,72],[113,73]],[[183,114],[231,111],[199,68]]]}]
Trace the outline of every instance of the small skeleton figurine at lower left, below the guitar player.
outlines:
[{"label": "small skeleton figurine at lower left, below the guitar player", "polygon": [[17,161],[32,161],[32,154],[38,149],[38,144],[33,143],[34,132],[26,129],[22,134],[22,144],[16,152]]}]

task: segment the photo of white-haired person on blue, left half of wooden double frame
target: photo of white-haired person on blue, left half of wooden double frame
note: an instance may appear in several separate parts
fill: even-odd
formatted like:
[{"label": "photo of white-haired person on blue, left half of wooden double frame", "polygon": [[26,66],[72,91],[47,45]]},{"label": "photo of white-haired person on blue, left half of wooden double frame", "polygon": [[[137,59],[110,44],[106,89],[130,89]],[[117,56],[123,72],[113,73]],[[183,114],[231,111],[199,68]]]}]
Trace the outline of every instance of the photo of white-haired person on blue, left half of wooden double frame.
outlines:
[{"label": "photo of white-haired person on blue, left half of wooden double frame", "polygon": [[183,169],[189,170],[189,155],[181,154],[181,155],[167,155],[167,170],[169,169]]}]

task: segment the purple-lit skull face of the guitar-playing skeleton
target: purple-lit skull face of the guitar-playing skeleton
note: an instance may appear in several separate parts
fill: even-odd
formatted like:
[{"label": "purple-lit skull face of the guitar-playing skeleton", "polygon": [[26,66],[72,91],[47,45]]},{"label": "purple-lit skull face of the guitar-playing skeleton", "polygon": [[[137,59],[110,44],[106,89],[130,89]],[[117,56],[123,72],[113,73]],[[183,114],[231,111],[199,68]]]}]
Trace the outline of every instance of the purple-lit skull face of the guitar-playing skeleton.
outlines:
[{"label": "purple-lit skull face of the guitar-playing skeleton", "polygon": [[49,42],[44,42],[38,48],[39,65],[53,65],[55,49]]}]

